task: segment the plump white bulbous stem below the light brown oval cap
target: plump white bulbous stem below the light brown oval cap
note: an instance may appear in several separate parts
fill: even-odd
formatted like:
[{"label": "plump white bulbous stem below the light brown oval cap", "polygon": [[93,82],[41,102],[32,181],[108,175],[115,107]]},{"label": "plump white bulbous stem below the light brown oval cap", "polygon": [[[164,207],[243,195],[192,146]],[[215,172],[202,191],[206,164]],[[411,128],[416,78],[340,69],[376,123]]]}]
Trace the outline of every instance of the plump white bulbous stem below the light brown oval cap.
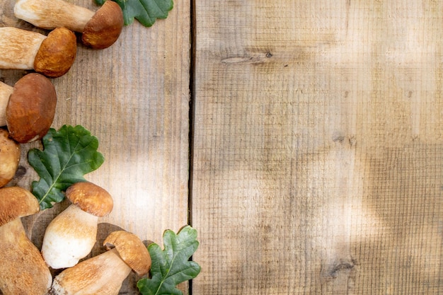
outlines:
[{"label": "plump white bulbous stem below the light brown oval cap", "polygon": [[72,267],[88,255],[96,243],[98,217],[69,205],[47,226],[42,255],[54,269]]}]

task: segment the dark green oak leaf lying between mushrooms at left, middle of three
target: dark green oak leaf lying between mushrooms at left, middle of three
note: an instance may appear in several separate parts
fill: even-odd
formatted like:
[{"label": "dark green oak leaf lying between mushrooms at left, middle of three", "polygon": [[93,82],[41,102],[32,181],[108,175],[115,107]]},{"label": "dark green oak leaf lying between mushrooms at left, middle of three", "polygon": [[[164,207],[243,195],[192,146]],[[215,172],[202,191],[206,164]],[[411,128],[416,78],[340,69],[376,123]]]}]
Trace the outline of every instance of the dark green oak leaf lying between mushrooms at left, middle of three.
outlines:
[{"label": "dark green oak leaf lying between mushrooms at left, middle of three", "polygon": [[78,125],[64,125],[57,132],[51,128],[43,137],[43,151],[30,149],[28,162],[40,176],[33,181],[33,195],[40,209],[62,202],[63,191],[70,185],[86,181],[84,175],[96,170],[104,161],[97,151],[98,139]]}]

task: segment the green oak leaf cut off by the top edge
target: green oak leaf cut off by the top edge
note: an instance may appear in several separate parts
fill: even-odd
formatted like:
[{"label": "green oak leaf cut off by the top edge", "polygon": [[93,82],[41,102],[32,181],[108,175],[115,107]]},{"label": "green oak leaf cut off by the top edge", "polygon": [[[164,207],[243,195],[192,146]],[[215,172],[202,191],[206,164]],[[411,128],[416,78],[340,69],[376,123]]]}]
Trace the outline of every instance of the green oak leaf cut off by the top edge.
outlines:
[{"label": "green oak leaf cut off by the top edge", "polygon": [[[106,0],[96,0],[103,5]],[[134,18],[145,27],[154,25],[157,18],[167,18],[173,8],[173,0],[113,0],[122,8],[125,25],[130,25]]]}]

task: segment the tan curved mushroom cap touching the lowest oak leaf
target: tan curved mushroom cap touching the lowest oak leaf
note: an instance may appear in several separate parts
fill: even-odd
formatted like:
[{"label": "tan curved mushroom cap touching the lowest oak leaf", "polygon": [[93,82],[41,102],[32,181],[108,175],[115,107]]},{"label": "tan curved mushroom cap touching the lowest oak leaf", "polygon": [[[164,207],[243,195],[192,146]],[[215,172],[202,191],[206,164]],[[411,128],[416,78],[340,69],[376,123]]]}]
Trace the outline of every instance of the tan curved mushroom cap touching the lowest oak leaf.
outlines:
[{"label": "tan curved mushroom cap touching the lowest oak leaf", "polygon": [[151,269],[151,256],[149,251],[140,240],[140,238],[134,233],[127,231],[113,231],[108,238],[105,238],[103,245],[111,248],[111,245],[115,246],[118,255],[122,258],[127,265],[129,265],[134,272],[139,275],[144,275]]}]

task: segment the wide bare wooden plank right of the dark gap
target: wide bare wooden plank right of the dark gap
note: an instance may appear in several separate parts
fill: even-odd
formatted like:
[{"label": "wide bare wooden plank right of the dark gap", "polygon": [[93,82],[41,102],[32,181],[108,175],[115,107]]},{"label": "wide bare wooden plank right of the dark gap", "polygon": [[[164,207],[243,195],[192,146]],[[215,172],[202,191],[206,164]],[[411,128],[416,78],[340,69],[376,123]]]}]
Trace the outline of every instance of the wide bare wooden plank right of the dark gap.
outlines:
[{"label": "wide bare wooden plank right of the dark gap", "polygon": [[439,1],[195,1],[192,294],[443,292]]}]

